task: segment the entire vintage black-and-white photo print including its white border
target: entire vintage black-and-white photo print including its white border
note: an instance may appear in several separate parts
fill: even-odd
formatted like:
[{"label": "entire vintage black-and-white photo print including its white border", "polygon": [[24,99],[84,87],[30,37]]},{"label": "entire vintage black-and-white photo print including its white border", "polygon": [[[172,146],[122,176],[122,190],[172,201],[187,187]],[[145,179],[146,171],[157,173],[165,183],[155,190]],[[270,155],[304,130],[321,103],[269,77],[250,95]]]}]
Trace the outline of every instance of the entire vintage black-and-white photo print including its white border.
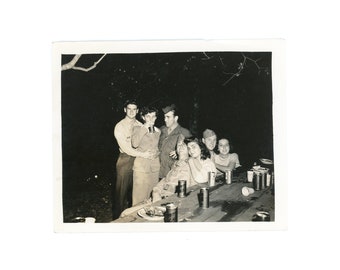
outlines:
[{"label": "entire vintage black-and-white photo print including its white border", "polygon": [[283,54],[282,40],[55,43],[55,230],[284,228]]}]

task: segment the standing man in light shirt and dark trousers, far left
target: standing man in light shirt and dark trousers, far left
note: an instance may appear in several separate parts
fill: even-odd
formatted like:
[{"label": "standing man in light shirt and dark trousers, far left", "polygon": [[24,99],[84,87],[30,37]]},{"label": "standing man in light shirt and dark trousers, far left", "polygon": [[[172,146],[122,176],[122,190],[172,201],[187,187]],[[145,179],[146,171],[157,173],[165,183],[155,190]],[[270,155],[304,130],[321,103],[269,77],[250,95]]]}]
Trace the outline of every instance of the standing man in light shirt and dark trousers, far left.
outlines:
[{"label": "standing man in light shirt and dark trousers, far left", "polygon": [[119,156],[116,163],[116,186],[113,197],[113,219],[132,205],[133,163],[135,157],[150,158],[151,152],[139,152],[131,145],[131,135],[134,126],[142,126],[136,119],[138,105],[135,100],[124,104],[125,117],[114,128],[114,136],[119,146]]}]

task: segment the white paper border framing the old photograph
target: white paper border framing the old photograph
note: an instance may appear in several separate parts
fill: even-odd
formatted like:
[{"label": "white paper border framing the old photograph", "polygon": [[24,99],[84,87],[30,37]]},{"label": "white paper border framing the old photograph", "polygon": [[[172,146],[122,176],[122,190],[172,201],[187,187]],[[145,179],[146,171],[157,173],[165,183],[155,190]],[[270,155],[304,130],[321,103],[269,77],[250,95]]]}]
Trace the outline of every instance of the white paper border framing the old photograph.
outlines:
[{"label": "white paper border framing the old photograph", "polygon": [[[273,134],[275,159],[275,221],[201,223],[64,223],[62,206],[61,56],[94,53],[161,53],[202,51],[272,52]],[[288,174],[285,95],[285,41],[254,40],[159,40],[88,41],[52,44],[53,90],[53,187],[55,232],[157,232],[157,231],[257,231],[287,230]]]}]

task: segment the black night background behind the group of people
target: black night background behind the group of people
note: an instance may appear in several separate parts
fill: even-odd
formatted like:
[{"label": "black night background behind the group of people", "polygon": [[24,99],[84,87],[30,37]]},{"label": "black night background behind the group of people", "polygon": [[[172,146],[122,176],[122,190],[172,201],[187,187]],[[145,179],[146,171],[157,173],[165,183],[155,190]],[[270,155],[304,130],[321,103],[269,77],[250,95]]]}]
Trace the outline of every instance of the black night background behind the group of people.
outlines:
[{"label": "black night background behind the group of people", "polygon": [[[73,56],[63,55],[61,64]],[[101,56],[82,55],[76,65],[90,67]],[[273,159],[270,52],[107,54],[88,72],[62,71],[61,95],[65,222],[112,219],[113,129],[128,98],[159,110],[176,103],[183,127],[199,137],[210,128],[229,138],[245,169],[259,158]],[[163,123],[160,114],[156,124]]]}]

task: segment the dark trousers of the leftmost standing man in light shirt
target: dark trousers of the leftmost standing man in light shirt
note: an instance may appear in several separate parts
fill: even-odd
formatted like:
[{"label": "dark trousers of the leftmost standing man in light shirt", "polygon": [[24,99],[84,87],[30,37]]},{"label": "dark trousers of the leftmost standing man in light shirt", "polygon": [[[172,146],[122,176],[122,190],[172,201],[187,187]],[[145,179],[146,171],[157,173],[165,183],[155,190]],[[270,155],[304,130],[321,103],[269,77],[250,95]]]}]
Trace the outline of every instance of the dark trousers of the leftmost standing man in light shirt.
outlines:
[{"label": "dark trousers of the leftmost standing man in light shirt", "polygon": [[113,219],[132,206],[133,162],[135,157],[120,153],[116,164],[116,187],[114,190]]}]

